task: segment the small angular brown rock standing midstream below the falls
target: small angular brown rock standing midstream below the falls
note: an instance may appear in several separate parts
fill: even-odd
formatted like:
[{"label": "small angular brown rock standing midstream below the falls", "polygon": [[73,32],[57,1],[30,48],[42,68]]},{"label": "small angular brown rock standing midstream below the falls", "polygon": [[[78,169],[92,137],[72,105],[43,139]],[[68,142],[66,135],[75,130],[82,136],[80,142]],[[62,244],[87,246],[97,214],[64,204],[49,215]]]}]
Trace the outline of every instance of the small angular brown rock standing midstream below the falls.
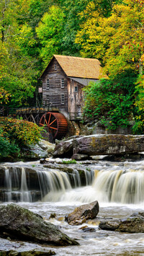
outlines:
[{"label": "small angular brown rock standing midstream below the falls", "polygon": [[72,213],[69,213],[68,216],[66,216],[66,220],[70,225],[80,225],[86,222],[87,219],[96,218],[98,213],[99,203],[98,201],[94,201],[75,208]]}]

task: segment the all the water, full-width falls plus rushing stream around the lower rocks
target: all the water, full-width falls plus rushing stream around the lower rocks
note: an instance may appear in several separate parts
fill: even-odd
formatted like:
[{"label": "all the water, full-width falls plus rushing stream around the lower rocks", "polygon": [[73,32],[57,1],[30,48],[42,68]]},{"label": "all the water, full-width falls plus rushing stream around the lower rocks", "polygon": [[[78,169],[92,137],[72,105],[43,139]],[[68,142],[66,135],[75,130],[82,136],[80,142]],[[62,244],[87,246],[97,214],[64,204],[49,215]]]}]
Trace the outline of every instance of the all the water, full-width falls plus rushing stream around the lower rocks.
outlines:
[{"label": "all the water, full-width falls plus rushing stream around the lower rocks", "polygon": [[[144,211],[144,162],[99,161],[91,162],[89,167],[77,164],[68,168],[69,173],[34,163],[17,164],[15,167],[14,164],[1,165],[0,200],[18,202],[60,226],[61,231],[80,243],[78,247],[60,248],[42,244],[42,247],[39,245],[41,250],[53,249],[58,256],[143,255],[144,234],[104,231],[97,225],[101,218],[125,219],[132,213]],[[99,201],[98,218],[81,225],[88,226],[88,230],[92,228],[92,232],[64,221],[66,214],[76,206],[94,200]],[[55,218],[50,218],[50,213],[55,213]],[[37,250],[37,244],[20,244],[19,241],[0,238],[0,250]]]}]

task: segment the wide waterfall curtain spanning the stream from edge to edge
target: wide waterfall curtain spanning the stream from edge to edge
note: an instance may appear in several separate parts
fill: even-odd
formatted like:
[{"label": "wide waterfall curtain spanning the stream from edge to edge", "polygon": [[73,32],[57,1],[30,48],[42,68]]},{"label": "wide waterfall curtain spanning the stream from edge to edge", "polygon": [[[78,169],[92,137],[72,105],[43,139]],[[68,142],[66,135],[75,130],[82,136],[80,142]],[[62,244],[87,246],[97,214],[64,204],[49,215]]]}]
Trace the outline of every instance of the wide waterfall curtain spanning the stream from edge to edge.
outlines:
[{"label": "wide waterfall curtain spanning the stream from edge to edge", "polygon": [[3,166],[0,172],[0,201],[144,201],[143,169],[136,167],[134,170],[127,168],[127,165],[122,169],[118,166],[102,168],[95,171],[73,169],[71,173],[66,173],[58,169]]}]

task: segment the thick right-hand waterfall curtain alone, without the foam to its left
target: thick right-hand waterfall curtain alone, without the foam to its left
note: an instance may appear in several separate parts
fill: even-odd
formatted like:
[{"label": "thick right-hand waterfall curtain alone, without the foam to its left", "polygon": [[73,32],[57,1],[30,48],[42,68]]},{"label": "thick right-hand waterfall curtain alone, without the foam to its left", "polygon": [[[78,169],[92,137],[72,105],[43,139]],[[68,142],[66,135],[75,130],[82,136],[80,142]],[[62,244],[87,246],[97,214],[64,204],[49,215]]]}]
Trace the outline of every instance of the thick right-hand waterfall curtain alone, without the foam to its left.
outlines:
[{"label": "thick right-hand waterfall curtain alone, without the foam to its left", "polygon": [[100,200],[117,203],[144,201],[144,172],[108,170],[96,172],[92,187]]}]

